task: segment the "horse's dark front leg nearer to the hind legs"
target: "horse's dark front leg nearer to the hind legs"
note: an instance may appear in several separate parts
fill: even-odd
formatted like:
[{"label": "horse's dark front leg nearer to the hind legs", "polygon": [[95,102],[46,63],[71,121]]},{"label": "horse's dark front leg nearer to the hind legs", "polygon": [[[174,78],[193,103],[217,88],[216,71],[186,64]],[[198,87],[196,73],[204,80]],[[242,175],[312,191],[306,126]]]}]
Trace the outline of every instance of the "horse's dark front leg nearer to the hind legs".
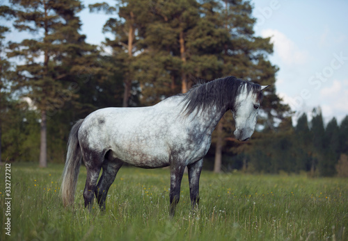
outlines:
[{"label": "horse's dark front leg nearer to the hind legs", "polygon": [[175,215],[175,207],[180,200],[180,185],[182,175],[184,174],[185,166],[180,164],[171,165],[171,192],[169,192],[169,199],[171,206],[169,214],[171,217]]}]

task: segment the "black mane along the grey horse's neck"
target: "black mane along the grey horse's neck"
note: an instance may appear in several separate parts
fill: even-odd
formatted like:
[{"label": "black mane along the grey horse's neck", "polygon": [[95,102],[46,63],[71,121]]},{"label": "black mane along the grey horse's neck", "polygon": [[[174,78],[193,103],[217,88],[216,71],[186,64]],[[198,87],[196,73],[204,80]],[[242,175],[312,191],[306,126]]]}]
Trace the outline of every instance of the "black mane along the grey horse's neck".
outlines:
[{"label": "black mane along the grey horse's neck", "polygon": [[242,88],[248,92],[258,94],[258,99],[262,100],[261,86],[250,81],[244,81],[234,76],[217,78],[207,83],[198,83],[194,85],[187,93],[183,94],[185,103],[183,113],[190,115],[193,111],[197,113],[206,110],[209,106],[223,106],[227,110],[235,109],[235,100]]}]

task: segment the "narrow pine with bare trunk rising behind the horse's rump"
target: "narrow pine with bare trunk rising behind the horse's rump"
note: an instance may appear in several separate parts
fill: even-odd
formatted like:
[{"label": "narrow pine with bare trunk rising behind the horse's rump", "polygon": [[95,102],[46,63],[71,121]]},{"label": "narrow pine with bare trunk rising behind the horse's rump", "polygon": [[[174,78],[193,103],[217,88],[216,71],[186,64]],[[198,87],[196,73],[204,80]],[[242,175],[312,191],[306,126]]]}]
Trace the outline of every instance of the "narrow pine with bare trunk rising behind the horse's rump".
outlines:
[{"label": "narrow pine with bare trunk rising behind the horse's rump", "polygon": [[[118,13],[118,17],[111,17],[104,25],[103,32],[115,36],[113,40],[106,38],[105,44],[112,48],[113,63],[106,67],[107,72],[120,72],[123,76],[123,98],[122,106],[129,106],[132,100],[132,90],[135,81],[134,53],[139,49],[140,35],[143,26],[148,22],[149,4],[139,0],[116,1],[116,6],[109,6],[107,3],[95,3],[89,6],[91,12],[104,11],[107,14]],[[131,103],[132,104],[132,103]]]}]

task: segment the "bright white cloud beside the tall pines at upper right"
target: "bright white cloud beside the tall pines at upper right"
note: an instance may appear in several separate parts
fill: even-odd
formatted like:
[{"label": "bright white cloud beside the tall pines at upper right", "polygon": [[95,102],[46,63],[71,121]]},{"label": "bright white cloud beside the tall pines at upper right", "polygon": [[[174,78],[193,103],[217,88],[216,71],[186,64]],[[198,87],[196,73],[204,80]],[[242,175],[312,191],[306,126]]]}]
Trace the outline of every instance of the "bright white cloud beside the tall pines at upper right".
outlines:
[{"label": "bright white cloud beside the tall pines at upper right", "polygon": [[308,52],[301,51],[292,40],[284,33],[276,29],[264,29],[261,32],[263,38],[271,37],[274,44],[274,52],[287,65],[304,64],[308,62]]}]

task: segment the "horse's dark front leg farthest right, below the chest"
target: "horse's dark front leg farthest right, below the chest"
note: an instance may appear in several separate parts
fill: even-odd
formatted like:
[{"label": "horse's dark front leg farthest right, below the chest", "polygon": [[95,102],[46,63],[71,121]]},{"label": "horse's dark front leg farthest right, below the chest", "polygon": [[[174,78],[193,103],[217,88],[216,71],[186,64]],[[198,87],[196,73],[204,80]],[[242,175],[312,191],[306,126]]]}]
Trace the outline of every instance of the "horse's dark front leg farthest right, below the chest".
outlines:
[{"label": "horse's dark front leg farthest right, below the chest", "polygon": [[203,158],[198,160],[196,163],[188,165],[189,169],[189,185],[190,185],[190,198],[192,208],[195,208],[196,204],[199,203],[199,177],[200,171],[202,171]]}]

